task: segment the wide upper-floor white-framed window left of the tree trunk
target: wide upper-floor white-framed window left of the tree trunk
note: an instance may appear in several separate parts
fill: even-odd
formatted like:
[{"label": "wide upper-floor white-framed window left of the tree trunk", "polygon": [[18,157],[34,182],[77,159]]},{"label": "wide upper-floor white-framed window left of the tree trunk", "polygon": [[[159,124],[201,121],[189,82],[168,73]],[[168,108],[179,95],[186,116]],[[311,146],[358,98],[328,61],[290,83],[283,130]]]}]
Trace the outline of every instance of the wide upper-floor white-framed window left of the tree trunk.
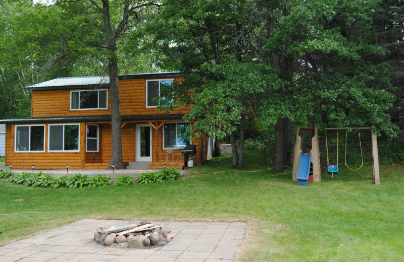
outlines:
[{"label": "wide upper-floor white-framed window left of the tree trunk", "polygon": [[107,108],[107,89],[70,91],[70,110]]}]

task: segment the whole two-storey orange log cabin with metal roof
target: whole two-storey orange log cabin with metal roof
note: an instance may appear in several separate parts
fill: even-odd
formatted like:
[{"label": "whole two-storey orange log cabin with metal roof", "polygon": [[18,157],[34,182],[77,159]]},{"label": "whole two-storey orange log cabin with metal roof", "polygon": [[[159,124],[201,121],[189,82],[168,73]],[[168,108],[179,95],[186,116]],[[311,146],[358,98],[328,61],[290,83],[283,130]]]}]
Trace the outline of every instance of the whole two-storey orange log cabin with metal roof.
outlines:
[{"label": "whole two-storey orange log cabin with metal roof", "polygon": [[[194,163],[207,158],[207,136],[187,140],[189,105],[170,113],[157,109],[164,85],[181,81],[179,72],[119,76],[124,166],[183,168],[181,149],[196,146]],[[31,117],[6,124],[5,165],[16,169],[105,169],[111,160],[109,77],[57,78],[28,86]]]}]

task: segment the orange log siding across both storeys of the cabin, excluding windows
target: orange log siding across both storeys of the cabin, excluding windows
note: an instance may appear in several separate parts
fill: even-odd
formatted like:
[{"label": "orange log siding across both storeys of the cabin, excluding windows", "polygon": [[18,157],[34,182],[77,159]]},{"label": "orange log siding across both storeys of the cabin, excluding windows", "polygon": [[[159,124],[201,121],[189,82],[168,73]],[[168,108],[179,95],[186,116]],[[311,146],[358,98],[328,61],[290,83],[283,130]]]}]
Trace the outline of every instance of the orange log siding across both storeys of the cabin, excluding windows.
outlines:
[{"label": "orange log siding across both storeys of the cabin, excluding windows", "polygon": [[[172,79],[172,78],[158,78]],[[146,108],[146,80],[153,79],[130,79],[119,80],[121,115],[162,115],[165,111],[157,108]],[[182,80],[175,78],[174,80]],[[103,88],[105,89],[105,88]],[[83,88],[85,90],[85,88]],[[63,116],[91,116],[110,115],[111,100],[108,90],[108,109],[70,110],[71,90],[33,90],[31,117],[63,117]],[[189,112],[190,107],[176,108],[172,114],[184,114]],[[151,119],[151,118],[150,118]],[[136,161],[136,124],[151,123],[152,132],[152,162],[149,168],[162,168],[163,163],[167,166],[182,167],[183,159],[178,160],[178,151],[175,150],[174,163],[166,161],[166,150],[163,149],[163,122],[182,122],[182,119],[131,121],[124,123],[122,127],[122,151],[123,162]],[[60,124],[65,122],[59,122]],[[34,124],[34,123],[32,123]],[[65,169],[69,164],[70,169],[104,169],[107,168],[111,159],[111,123],[81,122],[79,152],[48,152],[48,128],[45,125],[45,152],[14,152],[15,124],[6,124],[6,159],[5,164],[13,164],[15,169],[31,169],[35,164],[37,171],[41,169]],[[52,123],[57,124],[57,123]],[[98,152],[86,152],[86,124],[99,125]],[[160,125],[160,127],[159,127]],[[156,130],[156,127],[159,127]],[[197,147],[196,163],[201,163],[200,149],[201,138],[194,138],[192,144]],[[206,157],[206,140],[204,140],[204,156]],[[178,160],[178,161],[177,161]]]}]

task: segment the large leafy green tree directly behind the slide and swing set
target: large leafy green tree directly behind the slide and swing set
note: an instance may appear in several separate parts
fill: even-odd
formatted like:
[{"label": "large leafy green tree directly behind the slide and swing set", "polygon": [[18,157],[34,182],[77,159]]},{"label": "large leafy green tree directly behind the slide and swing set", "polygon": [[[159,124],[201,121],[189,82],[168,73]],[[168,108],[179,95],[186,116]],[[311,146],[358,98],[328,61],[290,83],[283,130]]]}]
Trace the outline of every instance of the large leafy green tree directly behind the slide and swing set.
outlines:
[{"label": "large leafy green tree directly behind the slide and swing set", "polygon": [[372,26],[381,1],[259,3],[266,21],[263,59],[288,82],[277,91],[278,99],[262,103],[265,119],[277,117],[277,170],[290,163],[287,152],[292,148],[287,140],[293,121],[322,125],[316,120],[322,115],[326,124],[330,118],[336,126],[374,124],[390,135],[395,133],[386,114],[393,101],[387,92],[386,65],[369,60],[384,52]]}]

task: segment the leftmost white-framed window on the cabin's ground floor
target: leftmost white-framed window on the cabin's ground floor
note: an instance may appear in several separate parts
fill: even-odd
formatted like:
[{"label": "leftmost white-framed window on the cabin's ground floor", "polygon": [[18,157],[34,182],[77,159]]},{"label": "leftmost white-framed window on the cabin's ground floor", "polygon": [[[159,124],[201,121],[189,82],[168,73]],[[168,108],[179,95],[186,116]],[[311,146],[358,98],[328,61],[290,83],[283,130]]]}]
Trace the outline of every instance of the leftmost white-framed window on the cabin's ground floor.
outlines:
[{"label": "leftmost white-framed window on the cabin's ground floor", "polygon": [[16,125],[15,152],[45,152],[45,125]]}]

